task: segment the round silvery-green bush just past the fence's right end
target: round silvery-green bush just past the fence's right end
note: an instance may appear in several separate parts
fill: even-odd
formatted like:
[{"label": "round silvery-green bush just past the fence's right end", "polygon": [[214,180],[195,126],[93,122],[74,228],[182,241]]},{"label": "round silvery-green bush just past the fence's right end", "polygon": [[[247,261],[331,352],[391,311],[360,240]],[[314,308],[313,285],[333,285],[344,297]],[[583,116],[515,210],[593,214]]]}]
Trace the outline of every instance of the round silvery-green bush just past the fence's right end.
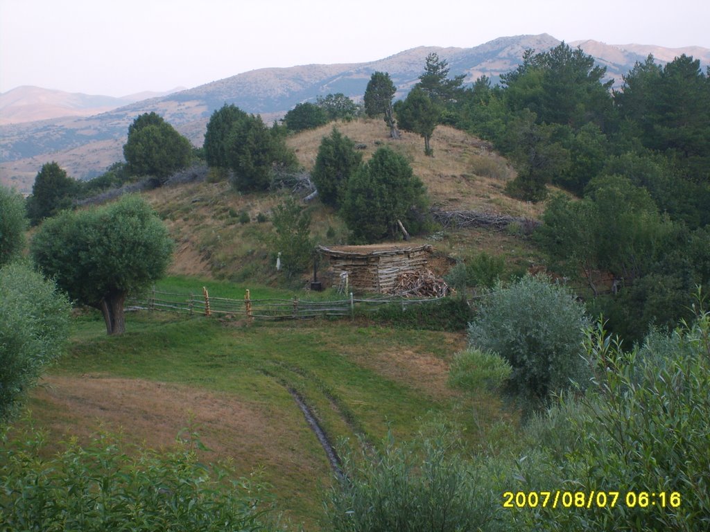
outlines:
[{"label": "round silvery-green bush just past the fence's right end", "polygon": [[584,306],[567,289],[526,275],[508,288],[498,284],[488,295],[469,326],[469,343],[506,359],[513,367],[511,391],[534,406],[572,380],[586,385],[586,323]]}]

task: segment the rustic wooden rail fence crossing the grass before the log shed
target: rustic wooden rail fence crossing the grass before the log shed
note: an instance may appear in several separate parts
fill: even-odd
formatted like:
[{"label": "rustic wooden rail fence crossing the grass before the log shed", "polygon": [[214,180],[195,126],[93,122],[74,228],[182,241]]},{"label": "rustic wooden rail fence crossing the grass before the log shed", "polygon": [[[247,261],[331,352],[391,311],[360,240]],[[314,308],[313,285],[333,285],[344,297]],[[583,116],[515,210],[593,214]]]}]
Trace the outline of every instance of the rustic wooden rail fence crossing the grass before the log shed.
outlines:
[{"label": "rustic wooden rail fence crossing the grass before the log shed", "polygon": [[244,299],[212,297],[206,288],[194,294],[175,294],[153,288],[147,297],[133,298],[126,301],[126,309],[148,311],[173,311],[189,314],[213,314],[244,316],[249,320],[258,319],[296,319],[328,316],[351,316],[355,310],[376,309],[388,303],[400,304],[403,309],[409,305],[427,304],[442,299],[405,299],[382,297],[377,299],[358,299],[351,293],[346,299],[337,301],[310,301],[307,299],[251,299],[246,290]]}]

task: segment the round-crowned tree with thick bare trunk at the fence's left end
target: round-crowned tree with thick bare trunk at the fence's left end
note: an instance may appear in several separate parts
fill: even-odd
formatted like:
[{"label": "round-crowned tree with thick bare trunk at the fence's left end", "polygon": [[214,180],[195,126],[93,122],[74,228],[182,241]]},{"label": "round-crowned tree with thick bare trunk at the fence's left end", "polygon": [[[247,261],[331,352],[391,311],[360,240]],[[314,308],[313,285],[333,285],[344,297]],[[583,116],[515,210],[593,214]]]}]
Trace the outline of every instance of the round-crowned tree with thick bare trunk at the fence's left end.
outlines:
[{"label": "round-crowned tree with thick bare trunk at the fence's left end", "polygon": [[102,311],[109,334],[125,331],[124,301],[159,279],[173,242],[151,206],[128,196],[45,221],[31,253],[72,299]]}]

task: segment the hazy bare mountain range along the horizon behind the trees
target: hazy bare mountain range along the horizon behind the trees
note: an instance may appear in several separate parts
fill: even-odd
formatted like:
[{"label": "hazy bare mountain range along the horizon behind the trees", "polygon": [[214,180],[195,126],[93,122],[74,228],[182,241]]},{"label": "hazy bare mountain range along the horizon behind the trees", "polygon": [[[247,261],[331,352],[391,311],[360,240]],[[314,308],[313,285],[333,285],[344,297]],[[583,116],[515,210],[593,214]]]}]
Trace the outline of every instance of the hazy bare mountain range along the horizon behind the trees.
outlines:
[{"label": "hazy bare mountain range along the horizon behind the trees", "polygon": [[[450,75],[464,74],[466,83],[481,75],[497,82],[501,74],[515,69],[525,50],[541,52],[559,43],[546,33],[518,35],[474,48],[413,48],[367,63],[263,68],[192,89],[149,94],[151,97],[147,99],[142,97],[145,94],[111,99],[20,87],[0,94],[0,182],[28,192],[40,167],[50,160],[57,161],[72,177],[94,177],[112,163],[123,160],[121,148],[128,126],[141,113],[155,111],[192,143],[202,145],[209,116],[225,103],[273,121],[296,104],[315,101],[317,96],[342,92],[358,101],[371,74],[377,71],[390,74],[398,87],[395,98],[400,98],[418,81],[430,52],[437,52],[447,60]],[[607,45],[595,40],[568,44],[579,46],[606,67],[606,75],[616,87],[621,86],[623,74],[648,54],[660,63],[685,54],[699,59],[704,67],[710,65],[707,48]],[[62,104],[43,106],[42,102],[47,101]],[[23,121],[27,119],[32,121]]]}]

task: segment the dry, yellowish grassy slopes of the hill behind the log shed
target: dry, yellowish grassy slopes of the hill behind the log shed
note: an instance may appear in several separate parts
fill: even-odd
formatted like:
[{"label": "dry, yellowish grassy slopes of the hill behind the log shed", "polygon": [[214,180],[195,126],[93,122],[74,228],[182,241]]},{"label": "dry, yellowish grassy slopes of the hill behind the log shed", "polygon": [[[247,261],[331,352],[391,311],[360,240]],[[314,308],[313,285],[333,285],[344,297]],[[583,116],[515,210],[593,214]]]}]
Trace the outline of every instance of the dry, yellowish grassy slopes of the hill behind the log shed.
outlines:
[{"label": "dry, yellowish grassy slopes of the hill behind the log shed", "polygon": [[[289,138],[290,147],[307,170],[314,165],[321,139],[329,135],[332,127],[332,124],[323,126]],[[389,145],[403,153],[410,160],[414,173],[425,183],[435,208],[528,218],[539,218],[542,214],[542,205],[525,203],[503,194],[506,182],[514,177],[512,168],[486,143],[464,132],[439,126],[432,138],[435,157],[426,157],[422,138],[403,133],[401,140],[391,140],[382,121],[339,123],[337,128],[356,143],[365,145],[364,160],[381,145]],[[271,209],[283,199],[283,194],[240,194],[226,181],[200,182],[149,192],[149,201],[168,224],[177,243],[170,273],[235,282],[247,279],[267,284],[276,282],[273,262],[278,250],[270,242],[273,227],[271,221],[259,223],[257,218],[260,214],[269,218]],[[311,229],[317,243],[346,243],[346,227],[332,209],[322,206],[320,201],[314,201],[308,208],[312,209]],[[239,221],[242,213],[249,215],[249,223]],[[529,267],[539,262],[527,240],[506,232],[448,230],[416,241],[434,243],[441,255],[454,259],[465,259],[485,250],[493,255],[503,255],[518,266]]]}]

